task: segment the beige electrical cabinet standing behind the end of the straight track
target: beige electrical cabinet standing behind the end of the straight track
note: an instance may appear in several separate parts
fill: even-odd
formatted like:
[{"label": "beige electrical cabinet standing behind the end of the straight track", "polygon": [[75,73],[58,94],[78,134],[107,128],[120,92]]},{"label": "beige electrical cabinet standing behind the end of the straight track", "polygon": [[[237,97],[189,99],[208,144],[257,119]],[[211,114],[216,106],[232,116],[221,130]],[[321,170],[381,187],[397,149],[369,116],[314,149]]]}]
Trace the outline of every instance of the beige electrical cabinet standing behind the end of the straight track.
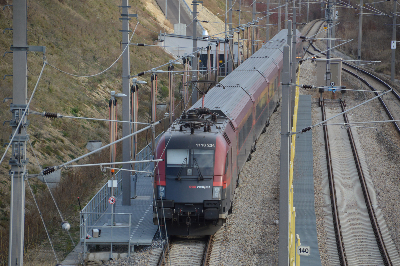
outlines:
[{"label": "beige electrical cabinet standing behind the end of the straight track", "polygon": [[317,63],[317,86],[342,86],[342,58],[330,58],[331,84],[326,84],[326,59],[314,60]]}]

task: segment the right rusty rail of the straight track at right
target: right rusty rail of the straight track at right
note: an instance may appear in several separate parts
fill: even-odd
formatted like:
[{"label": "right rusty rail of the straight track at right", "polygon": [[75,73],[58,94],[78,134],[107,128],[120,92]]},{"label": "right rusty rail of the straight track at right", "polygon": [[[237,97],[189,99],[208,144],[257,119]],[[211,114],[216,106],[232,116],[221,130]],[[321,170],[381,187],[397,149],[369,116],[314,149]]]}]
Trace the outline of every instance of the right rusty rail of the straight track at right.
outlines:
[{"label": "right rusty rail of the straight track at right", "polygon": [[[324,106],[324,105],[322,104],[322,106]],[[340,106],[342,107],[342,112],[344,112],[346,110],[346,108],[344,107],[344,103],[340,102]],[[347,113],[343,114],[343,118],[344,118],[345,123],[349,122]],[[374,235],[376,238],[376,242],[378,243],[378,248],[379,248],[380,254],[382,256],[383,263],[385,264],[385,266],[392,266],[393,264],[392,264],[392,261],[390,260],[388,250],[386,249],[386,245],[383,240],[382,233],[380,231],[380,227],[378,224],[378,219],[376,218],[374,206],[372,206],[371,196],[368,191],[368,186],[367,186],[367,183],[365,180],[364,172],[362,171],[362,167],[361,167],[360,157],[358,156],[356,143],[354,142],[354,137],[353,137],[352,130],[350,127],[347,128],[347,134],[349,136],[350,146],[351,146],[351,149],[353,152],[354,161],[356,163],[358,177],[360,178],[362,194],[364,195],[364,200],[365,200],[365,204],[367,206],[368,215],[371,220],[372,230],[374,230]]]}]

